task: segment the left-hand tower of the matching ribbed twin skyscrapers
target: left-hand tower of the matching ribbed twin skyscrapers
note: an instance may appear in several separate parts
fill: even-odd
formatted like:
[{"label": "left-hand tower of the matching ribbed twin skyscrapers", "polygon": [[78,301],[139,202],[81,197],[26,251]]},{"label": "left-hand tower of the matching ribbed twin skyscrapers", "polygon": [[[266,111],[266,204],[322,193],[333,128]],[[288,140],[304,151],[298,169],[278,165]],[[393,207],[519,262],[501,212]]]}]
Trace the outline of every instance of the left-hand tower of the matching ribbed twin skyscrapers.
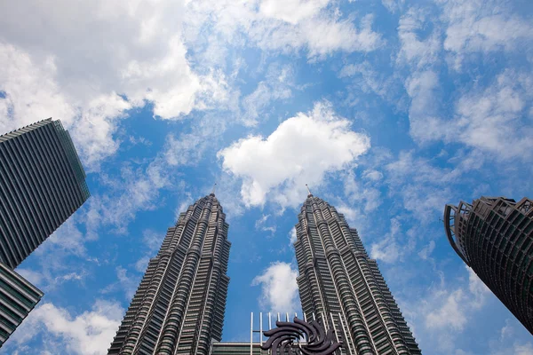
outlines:
[{"label": "left-hand tower of the matching ribbed twin skyscrapers", "polygon": [[226,215],[214,193],[179,215],[150,260],[108,354],[209,354],[222,338]]}]

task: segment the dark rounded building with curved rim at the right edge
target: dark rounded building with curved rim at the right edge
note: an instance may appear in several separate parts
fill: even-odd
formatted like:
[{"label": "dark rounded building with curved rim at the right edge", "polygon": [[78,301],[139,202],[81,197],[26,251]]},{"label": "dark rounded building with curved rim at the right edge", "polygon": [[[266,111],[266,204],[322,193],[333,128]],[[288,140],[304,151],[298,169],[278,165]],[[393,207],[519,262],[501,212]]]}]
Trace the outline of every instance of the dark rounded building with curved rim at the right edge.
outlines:
[{"label": "dark rounded building with curved rim at the right edge", "polygon": [[533,201],[446,205],[444,226],[457,255],[533,334]]}]

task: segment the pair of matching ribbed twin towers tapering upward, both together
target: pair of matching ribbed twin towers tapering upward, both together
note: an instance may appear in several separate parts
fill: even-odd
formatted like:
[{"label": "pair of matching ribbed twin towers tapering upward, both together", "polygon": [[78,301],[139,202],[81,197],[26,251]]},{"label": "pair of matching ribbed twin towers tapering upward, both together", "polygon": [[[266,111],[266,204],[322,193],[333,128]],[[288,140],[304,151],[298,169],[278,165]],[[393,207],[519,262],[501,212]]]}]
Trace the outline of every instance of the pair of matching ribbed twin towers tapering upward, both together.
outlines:
[{"label": "pair of matching ribbed twin towers tapering upward, both together", "polygon": [[[212,346],[222,338],[229,283],[225,217],[214,193],[179,215],[150,260],[108,354],[299,354]],[[421,353],[378,264],[335,208],[309,193],[296,231],[304,317],[334,332],[343,343],[335,353]]]}]

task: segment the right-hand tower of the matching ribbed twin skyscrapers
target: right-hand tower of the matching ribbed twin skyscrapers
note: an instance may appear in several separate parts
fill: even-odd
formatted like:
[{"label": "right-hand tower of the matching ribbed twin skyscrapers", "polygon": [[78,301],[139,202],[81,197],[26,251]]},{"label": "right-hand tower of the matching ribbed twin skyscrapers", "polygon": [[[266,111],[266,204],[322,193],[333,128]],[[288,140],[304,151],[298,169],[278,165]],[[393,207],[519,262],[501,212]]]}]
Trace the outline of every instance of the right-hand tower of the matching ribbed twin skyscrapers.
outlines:
[{"label": "right-hand tower of the matching ribbed twin skyscrapers", "polygon": [[335,329],[345,354],[421,354],[376,260],[337,209],[310,193],[296,233],[306,319],[322,319]]}]

